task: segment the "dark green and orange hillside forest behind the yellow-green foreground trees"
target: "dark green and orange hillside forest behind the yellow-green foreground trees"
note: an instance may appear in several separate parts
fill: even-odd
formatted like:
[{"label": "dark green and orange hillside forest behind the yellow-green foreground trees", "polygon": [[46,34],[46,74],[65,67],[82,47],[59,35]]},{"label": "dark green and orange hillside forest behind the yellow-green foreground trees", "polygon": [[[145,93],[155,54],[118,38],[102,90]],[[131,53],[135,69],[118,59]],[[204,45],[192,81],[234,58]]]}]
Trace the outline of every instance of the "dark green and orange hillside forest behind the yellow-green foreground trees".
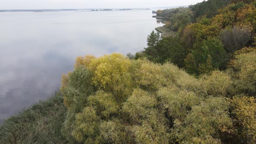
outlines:
[{"label": "dark green and orange hillside forest behind the yellow-green foreground trees", "polygon": [[212,70],[226,70],[234,53],[244,47],[256,46],[255,0],[207,0],[190,7],[158,10],[167,20],[165,27],[176,36],[148,40],[157,41],[144,48],[152,62],[171,62],[191,75]]}]

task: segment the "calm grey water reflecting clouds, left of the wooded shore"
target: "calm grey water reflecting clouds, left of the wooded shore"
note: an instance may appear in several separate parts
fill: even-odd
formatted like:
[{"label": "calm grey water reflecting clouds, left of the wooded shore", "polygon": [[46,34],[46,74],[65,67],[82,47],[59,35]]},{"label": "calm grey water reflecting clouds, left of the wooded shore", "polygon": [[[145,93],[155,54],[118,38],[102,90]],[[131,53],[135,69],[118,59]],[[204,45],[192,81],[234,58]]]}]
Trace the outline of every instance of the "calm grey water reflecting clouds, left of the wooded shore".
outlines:
[{"label": "calm grey water reflecting clouds, left of the wooded shore", "polygon": [[0,13],[0,122],[59,89],[76,56],[126,54],[158,26],[151,10]]}]

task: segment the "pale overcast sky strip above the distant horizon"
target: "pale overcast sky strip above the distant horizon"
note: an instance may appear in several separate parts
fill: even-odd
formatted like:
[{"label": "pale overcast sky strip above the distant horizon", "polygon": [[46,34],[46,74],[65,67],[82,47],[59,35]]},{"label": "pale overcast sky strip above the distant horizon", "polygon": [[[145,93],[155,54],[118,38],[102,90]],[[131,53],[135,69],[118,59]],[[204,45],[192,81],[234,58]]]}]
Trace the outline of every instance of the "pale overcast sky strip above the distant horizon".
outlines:
[{"label": "pale overcast sky strip above the distant horizon", "polygon": [[0,9],[150,8],[196,4],[203,0],[0,0]]}]

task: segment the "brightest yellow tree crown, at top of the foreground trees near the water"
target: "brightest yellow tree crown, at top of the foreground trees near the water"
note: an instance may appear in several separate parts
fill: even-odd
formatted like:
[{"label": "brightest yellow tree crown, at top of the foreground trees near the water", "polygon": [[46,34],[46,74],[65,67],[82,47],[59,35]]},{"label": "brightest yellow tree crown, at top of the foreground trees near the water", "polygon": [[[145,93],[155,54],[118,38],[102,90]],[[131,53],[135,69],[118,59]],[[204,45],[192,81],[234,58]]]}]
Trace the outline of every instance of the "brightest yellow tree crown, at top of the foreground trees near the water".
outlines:
[{"label": "brightest yellow tree crown, at top of the foreground trees near the water", "polygon": [[118,103],[123,102],[133,88],[130,68],[131,61],[118,53],[92,59],[88,66],[94,73],[92,83],[106,92],[111,92]]}]

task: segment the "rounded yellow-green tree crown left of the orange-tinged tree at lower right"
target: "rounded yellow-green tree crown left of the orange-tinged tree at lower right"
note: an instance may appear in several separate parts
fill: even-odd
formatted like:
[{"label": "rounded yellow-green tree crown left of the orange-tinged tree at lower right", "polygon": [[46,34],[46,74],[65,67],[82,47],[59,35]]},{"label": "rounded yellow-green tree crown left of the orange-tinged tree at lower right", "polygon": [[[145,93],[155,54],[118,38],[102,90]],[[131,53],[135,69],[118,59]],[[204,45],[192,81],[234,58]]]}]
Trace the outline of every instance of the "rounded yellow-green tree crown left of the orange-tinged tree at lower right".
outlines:
[{"label": "rounded yellow-green tree crown left of the orange-tinged tree at lower right", "polygon": [[225,98],[210,96],[200,105],[193,106],[187,115],[187,125],[179,137],[187,143],[199,139],[205,141],[204,137],[212,137],[215,141],[230,138],[233,123],[229,116],[229,105],[230,102]]}]

